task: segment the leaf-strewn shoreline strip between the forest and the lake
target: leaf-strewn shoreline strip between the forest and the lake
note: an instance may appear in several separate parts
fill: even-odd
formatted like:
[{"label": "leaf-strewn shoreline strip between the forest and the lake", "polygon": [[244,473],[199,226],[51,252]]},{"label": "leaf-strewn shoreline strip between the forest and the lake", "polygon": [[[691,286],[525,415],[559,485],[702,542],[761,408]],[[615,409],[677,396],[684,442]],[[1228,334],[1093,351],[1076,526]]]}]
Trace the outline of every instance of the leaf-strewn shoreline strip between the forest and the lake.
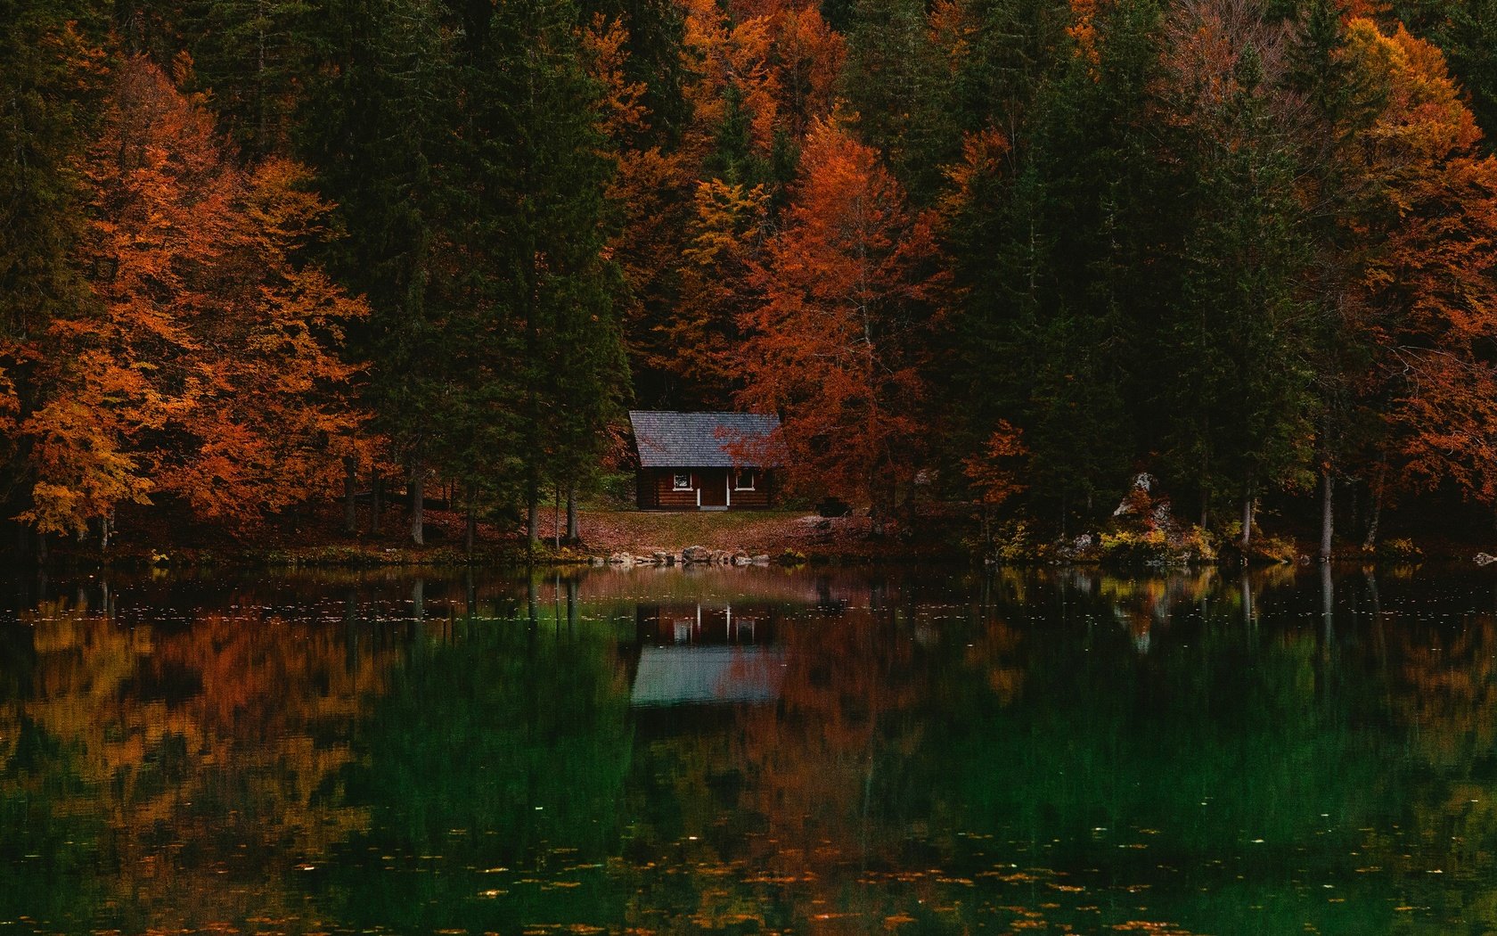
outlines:
[{"label": "leaf-strewn shoreline strip between the forest and the lake", "polygon": [[[463,545],[463,517],[431,511],[425,524],[428,542],[409,542],[404,526],[391,511],[382,526],[383,536],[367,532],[353,536],[340,529],[340,515],[326,511],[304,517],[295,526],[256,530],[232,536],[223,530],[190,523],[141,523],[129,518],[108,550],[93,542],[57,544],[48,551],[46,568],[97,569],[395,569],[395,568],[570,568],[570,566],[669,566],[683,565],[692,547],[716,556],[716,565],[756,562],[768,566],[912,566],[939,565],[964,569],[982,568],[1103,568],[1132,572],[1174,569],[1240,569],[1314,566],[1316,544],[1304,535],[1280,532],[1265,536],[1243,556],[1234,544],[1181,544],[1144,541],[1138,536],[1111,538],[1129,550],[1108,554],[1097,544],[1070,548],[1064,544],[1021,542],[993,547],[978,536],[966,505],[933,505],[919,517],[913,532],[897,530],[873,536],[865,517],[825,518],[805,511],[753,511],[740,514],[642,512],[632,509],[584,509],[581,542],[557,548],[551,538],[533,548],[524,533],[507,526],[481,524],[479,541],[470,553]],[[367,526],[367,517],[365,526]],[[542,529],[551,529],[549,511],[542,512]],[[1147,548],[1139,548],[1147,547]],[[1404,535],[1385,539],[1376,551],[1359,544],[1338,544],[1331,562],[1373,566],[1475,562],[1497,545],[1452,536]],[[36,563],[36,556],[15,562],[16,569]],[[704,562],[699,565],[714,565]]]}]

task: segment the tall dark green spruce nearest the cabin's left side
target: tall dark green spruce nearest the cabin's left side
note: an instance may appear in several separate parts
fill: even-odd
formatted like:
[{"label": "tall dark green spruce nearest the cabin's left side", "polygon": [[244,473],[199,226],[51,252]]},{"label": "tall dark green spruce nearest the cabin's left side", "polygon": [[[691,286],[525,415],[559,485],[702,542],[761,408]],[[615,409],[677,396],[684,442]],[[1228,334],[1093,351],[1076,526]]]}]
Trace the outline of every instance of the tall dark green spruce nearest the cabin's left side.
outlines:
[{"label": "tall dark green spruce nearest the cabin's left side", "polygon": [[[603,258],[611,160],[602,88],[588,76],[572,0],[464,7],[460,190],[493,270],[484,307],[506,316],[530,539],[546,481],[573,491],[596,472],[627,367],[614,312],[621,280]],[[496,322],[496,325],[499,325]]]}]

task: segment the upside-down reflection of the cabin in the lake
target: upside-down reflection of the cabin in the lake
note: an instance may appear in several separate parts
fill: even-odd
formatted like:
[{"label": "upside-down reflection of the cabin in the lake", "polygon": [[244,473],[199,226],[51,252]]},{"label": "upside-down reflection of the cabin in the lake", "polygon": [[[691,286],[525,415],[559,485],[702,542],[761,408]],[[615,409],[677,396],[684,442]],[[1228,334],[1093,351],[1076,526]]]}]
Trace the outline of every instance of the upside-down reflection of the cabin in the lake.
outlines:
[{"label": "upside-down reflection of the cabin in the lake", "polygon": [[774,647],[769,605],[639,605],[636,707],[774,702],[784,651]]}]

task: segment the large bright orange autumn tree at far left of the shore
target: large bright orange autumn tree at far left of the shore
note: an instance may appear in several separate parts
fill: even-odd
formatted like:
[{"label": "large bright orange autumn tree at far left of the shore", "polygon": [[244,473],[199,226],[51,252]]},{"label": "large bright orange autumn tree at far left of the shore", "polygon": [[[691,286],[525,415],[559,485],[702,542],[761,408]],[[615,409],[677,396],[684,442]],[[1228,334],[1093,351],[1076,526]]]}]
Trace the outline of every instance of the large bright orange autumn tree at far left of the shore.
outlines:
[{"label": "large bright orange autumn tree at far left of the shore", "polygon": [[211,115],[132,58],[87,172],[97,309],[54,325],[21,520],[108,536],[115,505],[169,496],[246,526],[331,487],[361,424],[334,349],[364,306],[298,258],[328,211],[305,171],[240,169]]}]

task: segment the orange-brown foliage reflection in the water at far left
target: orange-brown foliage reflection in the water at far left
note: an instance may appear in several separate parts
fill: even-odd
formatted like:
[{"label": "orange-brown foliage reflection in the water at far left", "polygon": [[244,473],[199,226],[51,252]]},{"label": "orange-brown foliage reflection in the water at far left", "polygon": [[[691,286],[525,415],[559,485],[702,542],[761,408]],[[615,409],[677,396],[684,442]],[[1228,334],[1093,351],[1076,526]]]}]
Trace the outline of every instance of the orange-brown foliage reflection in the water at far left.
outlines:
[{"label": "orange-brown foliage reflection in the water at far left", "polygon": [[[24,699],[0,705],[0,737],[30,734],[49,753],[7,756],[6,792],[108,830],[94,848],[144,908],[231,918],[225,884],[266,873],[266,855],[314,861],[367,828],[365,810],[340,806],[338,779],[389,648],[350,653],[343,627],[271,614],[130,627],[48,602],[24,619],[34,663]],[[76,785],[49,788],[60,774]]]}]

